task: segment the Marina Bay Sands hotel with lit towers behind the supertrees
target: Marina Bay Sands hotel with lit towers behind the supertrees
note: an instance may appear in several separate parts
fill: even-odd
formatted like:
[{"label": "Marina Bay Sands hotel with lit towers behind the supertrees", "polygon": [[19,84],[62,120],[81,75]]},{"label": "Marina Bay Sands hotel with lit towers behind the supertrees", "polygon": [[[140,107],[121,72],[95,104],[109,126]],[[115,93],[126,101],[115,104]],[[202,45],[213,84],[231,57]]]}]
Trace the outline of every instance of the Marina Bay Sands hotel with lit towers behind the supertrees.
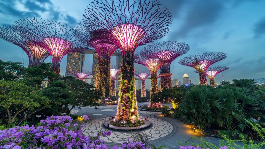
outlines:
[{"label": "Marina Bay Sands hotel with lit towers behind the supertrees", "polygon": [[[92,62],[92,72],[94,72],[94,75],[92,75],[91,84],[96,84],[96,70],[98,67],[98,54],[97,52],[92,50],[86,50],[82,52],[72,52],[67,54],[67,65],[66,65],[66,71],[65,76],[73,76],[75,75],[69,73],[72,72],[81,72],[83,70],[84,62],[85,62],[85,54],[93,54],[93,62]],[[116,50],[113,52],[112,56],[116,56],[116,65],[121,66],[121,52]],[[119,77],[119,75],[116,76],[116,79]],[[115,80],[115,88],[117,89],[120,85],[120,81]]]}]

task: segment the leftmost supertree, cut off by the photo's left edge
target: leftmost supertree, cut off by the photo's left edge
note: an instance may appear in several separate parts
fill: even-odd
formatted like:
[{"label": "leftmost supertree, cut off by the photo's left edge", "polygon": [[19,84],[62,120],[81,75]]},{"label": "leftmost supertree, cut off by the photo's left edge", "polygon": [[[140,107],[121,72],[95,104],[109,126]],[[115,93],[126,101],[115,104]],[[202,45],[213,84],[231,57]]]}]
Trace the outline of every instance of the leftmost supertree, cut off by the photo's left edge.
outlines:
[{"label": "leftmost supertree, cut off by the photo's left edge", "polygon": [[[31,36],[34,36],[31,34]],[[34,40],[27,40],[23,34],[17,31],[15,26],[3,26],[0,28],[0,38],[21,47],[28,55],[28,67],[38,66],[50,56],[50,53],[43,46],[38,45]]]}]

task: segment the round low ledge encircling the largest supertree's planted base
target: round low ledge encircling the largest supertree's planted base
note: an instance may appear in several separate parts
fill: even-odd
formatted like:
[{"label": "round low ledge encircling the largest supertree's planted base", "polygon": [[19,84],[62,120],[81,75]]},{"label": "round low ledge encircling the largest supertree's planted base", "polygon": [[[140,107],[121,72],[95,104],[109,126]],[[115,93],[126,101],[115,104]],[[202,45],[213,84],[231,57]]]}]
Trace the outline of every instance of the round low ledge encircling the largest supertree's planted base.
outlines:
[{"label": "round low ledge encircling the largest supertree's planted base", "polygon": [[147,129],[151,126],[151,122],[147,121],[147,120],[143,120],[145,123],[142,126],[136,126],[136,127],[119,127],[119,126],[113,126],[111,125],[112,120],[106,120],[103,123],[103,126],[106,128],[108,123],[109,123],[109,128],[110,130],[116,130],[116,131],[123,131],[123,132],[127,132],[127,131],[137,131],[137,130],[144,130]]}]

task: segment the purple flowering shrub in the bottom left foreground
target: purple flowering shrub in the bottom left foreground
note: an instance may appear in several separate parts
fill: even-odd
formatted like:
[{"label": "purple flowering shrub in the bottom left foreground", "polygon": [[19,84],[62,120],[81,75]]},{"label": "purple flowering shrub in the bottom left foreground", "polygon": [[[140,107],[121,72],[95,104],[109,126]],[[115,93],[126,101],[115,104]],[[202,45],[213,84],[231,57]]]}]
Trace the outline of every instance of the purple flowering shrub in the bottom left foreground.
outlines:
[{"label": "purple flowering shrub in the bottom left foreground", "polygon": [[[46,120],[41,120],[36,126],[15,126],[14,128],[0,130],[0,149],[21,149],[21,148],[88,148],[88,149],[108,149],[104,141],[99,139],[100,135],[106,137],[111,135],[111,131],[98,131],[96,136],[85,136],[82,128],[89,120],[87,115],[83,115],[82,124],[74,124],[76,130],[70,130],[72,118],[69,116],[50,116]],[[113,149],[137,148],[145,149],[141,142],[123,142],[122,147],[114,146]]]}]

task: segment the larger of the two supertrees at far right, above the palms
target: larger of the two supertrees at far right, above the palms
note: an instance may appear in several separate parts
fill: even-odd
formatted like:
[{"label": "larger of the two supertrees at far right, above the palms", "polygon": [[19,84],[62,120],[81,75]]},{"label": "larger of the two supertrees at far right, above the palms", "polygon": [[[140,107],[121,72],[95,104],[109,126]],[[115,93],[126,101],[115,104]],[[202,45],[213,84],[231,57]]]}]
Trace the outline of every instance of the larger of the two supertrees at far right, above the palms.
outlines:
[{"label": "larger of the two supertrees at far right, above the palms", "polygon": [[200,84],[207,84],[206,70],[210,65],[223,60],[227,57],[227,54],[222,52],[207,52],[197,55],[190,55],[181,60],[179,64],[186,65],[195,68],[199,72]]}]

